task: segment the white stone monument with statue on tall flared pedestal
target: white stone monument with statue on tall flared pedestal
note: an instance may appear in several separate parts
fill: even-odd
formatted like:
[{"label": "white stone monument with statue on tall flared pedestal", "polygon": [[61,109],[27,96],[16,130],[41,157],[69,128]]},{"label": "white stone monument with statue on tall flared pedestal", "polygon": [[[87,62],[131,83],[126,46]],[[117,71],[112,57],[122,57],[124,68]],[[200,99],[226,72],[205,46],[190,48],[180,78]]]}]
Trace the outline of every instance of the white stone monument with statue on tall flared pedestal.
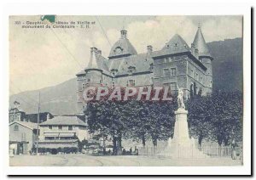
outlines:
[{"label": "white stone monument with statue on tall flared pedestal", "polygon": [[170,138],[166,149],[160,155],[171,156],[178,159],[206,158],[199,149],[195,147],[194,139],[189,138],[188,110],[185,110],[183,102],[183,88],[177,87],[177,110],[175,113],[175,125],[173,138]]}]

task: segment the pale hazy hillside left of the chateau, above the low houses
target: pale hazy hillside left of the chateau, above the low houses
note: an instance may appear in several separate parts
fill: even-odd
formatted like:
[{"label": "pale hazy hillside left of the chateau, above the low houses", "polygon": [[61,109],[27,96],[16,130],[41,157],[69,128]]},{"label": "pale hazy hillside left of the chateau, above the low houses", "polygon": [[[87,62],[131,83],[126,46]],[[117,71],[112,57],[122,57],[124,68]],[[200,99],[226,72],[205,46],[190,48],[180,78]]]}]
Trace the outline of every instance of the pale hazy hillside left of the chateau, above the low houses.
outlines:
[{"label": "pale hazy hillside left of the chateau, above the low houses", "polygon": [[[76,79],[70,79],[54,87],[40,89],[41,111],[52,115],[73,115],[76,112]],[[20,102],[20,107],[28,114],[38,111],[38,90],[12,95],[10,105]]]}]

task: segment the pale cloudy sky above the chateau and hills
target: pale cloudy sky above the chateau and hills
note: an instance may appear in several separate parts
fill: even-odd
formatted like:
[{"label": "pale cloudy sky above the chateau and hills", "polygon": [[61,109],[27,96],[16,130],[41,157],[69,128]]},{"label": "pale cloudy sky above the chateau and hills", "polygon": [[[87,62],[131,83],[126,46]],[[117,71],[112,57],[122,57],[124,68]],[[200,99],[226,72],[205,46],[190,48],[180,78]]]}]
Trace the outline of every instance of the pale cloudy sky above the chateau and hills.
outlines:
[{"label": "pale cloudy sky above the chateau and hills", "polygon": [[138,53],[163,48],[179,34],[190,45],[198,25],[207,42],[242,37],[241,16],[56,16],[57,21],[96,22],[90,28],[26,29],[16,25],[40,21],[40,15],[9,17],[10,94],[50,87],[65,82],[83,70],[90,59],[90,48],[108,57],[120,30]]}]

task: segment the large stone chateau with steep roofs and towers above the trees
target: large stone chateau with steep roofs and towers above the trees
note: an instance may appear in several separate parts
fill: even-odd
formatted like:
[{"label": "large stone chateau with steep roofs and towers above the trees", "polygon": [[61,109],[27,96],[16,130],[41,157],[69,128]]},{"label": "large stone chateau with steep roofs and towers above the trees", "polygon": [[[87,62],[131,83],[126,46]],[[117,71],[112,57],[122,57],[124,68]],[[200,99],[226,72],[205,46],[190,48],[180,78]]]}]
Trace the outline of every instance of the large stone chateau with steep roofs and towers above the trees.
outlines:
[{"label": "large stone chateau with steep roofs and towers above the trees", "polygon": [[200,26],[190,47],[176,34],[158,51],[148,45],[146,53],[137,53],[122,30],[108,58],[90,48],[89,64],[76,75],[78,113],[84,110],[82,94],[88,86],[167,86],[172,92],[178,86],[186,98],[192,93],[212,93],[212,59]]}]

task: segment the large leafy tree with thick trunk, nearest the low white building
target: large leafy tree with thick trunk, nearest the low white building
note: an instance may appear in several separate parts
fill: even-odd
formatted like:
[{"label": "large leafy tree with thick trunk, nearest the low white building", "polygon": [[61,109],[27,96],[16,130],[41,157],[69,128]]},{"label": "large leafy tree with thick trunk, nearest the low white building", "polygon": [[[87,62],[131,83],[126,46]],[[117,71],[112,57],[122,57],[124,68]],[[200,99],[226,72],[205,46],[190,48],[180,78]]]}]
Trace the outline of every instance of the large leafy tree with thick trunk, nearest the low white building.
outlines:
[{"label": "large leafy tree with thick trunk, nearest the low white building", "polygon": [[[98,138],[112,140],[113,155],[121,155],[122,138],[127,133],[133,109],[130,101],[108,100],[112,91],[113,89],[108,89],[108,95],[98,101],[89,101],[85,114],[88,117],[90,132]],[[121,93],[125,93],[124,88],[121,89]]]}]

